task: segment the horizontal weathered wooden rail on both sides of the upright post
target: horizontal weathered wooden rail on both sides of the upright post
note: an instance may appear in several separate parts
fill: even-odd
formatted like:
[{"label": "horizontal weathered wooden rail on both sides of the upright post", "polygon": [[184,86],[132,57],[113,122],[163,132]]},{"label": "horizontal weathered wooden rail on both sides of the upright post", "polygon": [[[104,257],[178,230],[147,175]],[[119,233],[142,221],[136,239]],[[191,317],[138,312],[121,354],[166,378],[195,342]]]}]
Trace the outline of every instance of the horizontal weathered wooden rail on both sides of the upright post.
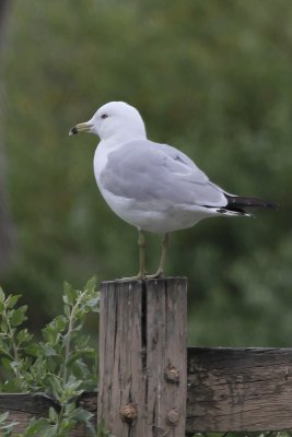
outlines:
[{"label": "horizontal weathered wooden rail on both sides of the upright post", "polygon": [[[79,403],[97,417],[96,392]],[[42,393],[0,394],[0,412],[20,423],[17,432],[49,406],[58,409]],[[280,429],[292,429],[292,349],[188,347],[187,435]]]}]

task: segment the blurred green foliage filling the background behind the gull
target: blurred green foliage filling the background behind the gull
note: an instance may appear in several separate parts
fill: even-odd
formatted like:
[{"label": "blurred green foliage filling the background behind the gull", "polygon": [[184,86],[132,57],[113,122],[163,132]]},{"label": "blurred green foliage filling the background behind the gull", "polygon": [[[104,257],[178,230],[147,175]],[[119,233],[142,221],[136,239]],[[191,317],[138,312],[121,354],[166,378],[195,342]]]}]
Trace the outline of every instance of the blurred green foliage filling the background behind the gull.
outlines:
[{"label": "blurred green foliage filling the background behind the gull", "polygon": [[[214,182],[281,204],[173,236],[167,274],[189,277],[190,343],[291,345],[292,3],[14,0],[4,55],[19,255],[2,284],[25,291],[35,326],[59,310],[63,279],[138,269],[137,231],[95,185],[96,138],[68,137],[122,99],[149,138],[186,152]],[[149,271],[159,244],[148,237]]]}]

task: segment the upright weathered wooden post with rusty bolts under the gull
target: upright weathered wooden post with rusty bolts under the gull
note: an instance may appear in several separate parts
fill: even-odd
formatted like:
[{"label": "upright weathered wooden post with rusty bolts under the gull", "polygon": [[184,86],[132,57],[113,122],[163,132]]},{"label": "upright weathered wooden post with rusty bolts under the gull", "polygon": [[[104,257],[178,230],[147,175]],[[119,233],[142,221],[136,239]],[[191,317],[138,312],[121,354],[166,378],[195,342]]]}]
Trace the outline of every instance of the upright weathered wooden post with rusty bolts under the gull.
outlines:
[{"label": "upright weathered wooden post with rusty bolts under the gull", "polygon": [[97,423],[115,437],[182,437],[187,281],[104,282]]}]

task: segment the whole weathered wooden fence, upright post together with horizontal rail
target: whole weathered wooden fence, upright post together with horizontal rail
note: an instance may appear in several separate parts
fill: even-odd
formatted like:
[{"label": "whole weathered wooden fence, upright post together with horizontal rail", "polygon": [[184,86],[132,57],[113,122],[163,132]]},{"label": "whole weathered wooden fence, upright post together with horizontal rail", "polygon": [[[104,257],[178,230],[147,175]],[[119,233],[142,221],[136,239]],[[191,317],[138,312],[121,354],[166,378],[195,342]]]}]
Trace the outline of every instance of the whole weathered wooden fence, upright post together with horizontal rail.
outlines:
[{"label": "whole weathered wooden fence, upright post together with horizontal rail", "polygon": [[[79,403],[115,436],[292,429],[292,349],[186,349],[184,279],[104,283],[101,315],[98,402]],[[42,393],[0,394],[17,433],[49,406]]]}]

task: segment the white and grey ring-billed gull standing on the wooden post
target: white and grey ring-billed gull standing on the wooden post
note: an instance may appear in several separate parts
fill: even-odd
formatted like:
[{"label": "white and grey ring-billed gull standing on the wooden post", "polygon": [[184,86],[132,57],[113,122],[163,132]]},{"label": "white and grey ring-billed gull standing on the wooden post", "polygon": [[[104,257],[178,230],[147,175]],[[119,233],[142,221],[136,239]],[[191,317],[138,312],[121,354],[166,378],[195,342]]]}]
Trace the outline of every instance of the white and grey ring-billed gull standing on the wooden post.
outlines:
[{"label": "white and grey ring-billed gull standing on the wooden post", "polygon": [[[147,139],[139,111],[124,103],[102,106],[69,134],[90,132],[101,142],[94,155],[97,186],[110,209],[139,231],[140,270],[131,279],[163,275],[168,234],[211,216],[250,216],[245,208],[277,204],[225,192],[177,149]],[[159,270],[147,275],[144,231],[163,235]]]}]

